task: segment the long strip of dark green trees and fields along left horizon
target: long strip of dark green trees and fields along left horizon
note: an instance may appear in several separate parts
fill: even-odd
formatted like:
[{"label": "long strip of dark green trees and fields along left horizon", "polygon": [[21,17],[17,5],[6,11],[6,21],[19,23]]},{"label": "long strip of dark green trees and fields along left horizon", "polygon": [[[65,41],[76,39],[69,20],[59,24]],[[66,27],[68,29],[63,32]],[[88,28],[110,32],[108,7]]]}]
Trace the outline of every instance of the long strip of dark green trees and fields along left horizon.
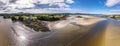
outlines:
[{"label": "long strip of dark green trees and fields along left horizon", "polygon": [[66,15],[4,15],[5,19],[11,18],[13,21],[25,20],[43,20],[43,21],[56,21],[65,18]]}]

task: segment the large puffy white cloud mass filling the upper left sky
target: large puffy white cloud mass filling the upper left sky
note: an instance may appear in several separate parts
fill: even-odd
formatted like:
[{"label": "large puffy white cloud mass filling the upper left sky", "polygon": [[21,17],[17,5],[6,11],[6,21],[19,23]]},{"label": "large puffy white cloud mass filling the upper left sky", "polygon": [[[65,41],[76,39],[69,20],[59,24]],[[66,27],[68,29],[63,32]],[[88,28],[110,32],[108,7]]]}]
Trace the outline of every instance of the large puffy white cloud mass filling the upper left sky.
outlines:
[{"label": "large puffy white cloud mass filling the upper left sky", "polygon": [[[0,10],[5,12],[28,12],[33,11],[32,8],[35,8],[36,4],[38,5],[46,5],[46,9],[49,9],[51,11],[53,10],[70,10],[70,5],[74,3],[73,0],[0,0]],[[52,8],[52,6],[57,6],[58,8]],[[34,12],[41,11],[42,6],[39,6],[39,9],[34,9]],[[31,8],[27,10],[18,10],[23,8]],[[43,10],[44,11],[44,10]],[[43,12],[42,11],[42,12]]]}]

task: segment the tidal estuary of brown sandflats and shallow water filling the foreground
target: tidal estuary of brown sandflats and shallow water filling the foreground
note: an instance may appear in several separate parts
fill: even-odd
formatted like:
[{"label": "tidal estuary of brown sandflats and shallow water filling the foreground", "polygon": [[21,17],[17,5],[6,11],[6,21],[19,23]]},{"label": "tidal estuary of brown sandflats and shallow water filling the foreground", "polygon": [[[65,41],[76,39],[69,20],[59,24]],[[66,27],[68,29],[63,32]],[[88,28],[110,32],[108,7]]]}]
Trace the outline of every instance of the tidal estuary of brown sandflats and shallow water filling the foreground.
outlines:
[{"label": "tidal estuary of brown sandflats and shallow water filling the foreground", "polygon": [[0,17],[0,46],[120,46],[120,22],[69,17],[50,22],[50,32],[35,32],[20,22]]}]

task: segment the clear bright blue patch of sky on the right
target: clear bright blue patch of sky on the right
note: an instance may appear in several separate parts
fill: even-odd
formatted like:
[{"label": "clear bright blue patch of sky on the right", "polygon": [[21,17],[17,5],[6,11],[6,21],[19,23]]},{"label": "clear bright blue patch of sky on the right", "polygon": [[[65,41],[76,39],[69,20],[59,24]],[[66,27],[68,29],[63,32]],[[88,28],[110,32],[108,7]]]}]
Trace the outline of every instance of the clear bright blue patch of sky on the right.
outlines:
[{"label": "clear bright blue patch of sky on the right", "polygon": [[[80,12],[93,14],[120,14],[120,4],[107,6],[107,0],[74,0],[75,3],[71,5],[74,9],[81,9]],[[112,10],[118,10],[113,11]]]}]

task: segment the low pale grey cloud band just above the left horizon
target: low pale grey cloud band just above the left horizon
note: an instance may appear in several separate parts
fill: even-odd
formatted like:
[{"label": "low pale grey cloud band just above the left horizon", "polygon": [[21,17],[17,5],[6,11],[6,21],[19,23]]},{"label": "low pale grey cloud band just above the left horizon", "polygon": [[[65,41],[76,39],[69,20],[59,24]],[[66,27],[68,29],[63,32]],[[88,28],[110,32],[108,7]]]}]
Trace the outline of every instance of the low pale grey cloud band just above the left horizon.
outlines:
[{"label": "low pale grey cloud band just above the left horizon", "polygon": [[[43,8],[43,9],[7,9],[5,13],[64,13],[64,12],[70,12],[72,9],[70,8]],[[0,11],[0,13],[4,13]]]}]

